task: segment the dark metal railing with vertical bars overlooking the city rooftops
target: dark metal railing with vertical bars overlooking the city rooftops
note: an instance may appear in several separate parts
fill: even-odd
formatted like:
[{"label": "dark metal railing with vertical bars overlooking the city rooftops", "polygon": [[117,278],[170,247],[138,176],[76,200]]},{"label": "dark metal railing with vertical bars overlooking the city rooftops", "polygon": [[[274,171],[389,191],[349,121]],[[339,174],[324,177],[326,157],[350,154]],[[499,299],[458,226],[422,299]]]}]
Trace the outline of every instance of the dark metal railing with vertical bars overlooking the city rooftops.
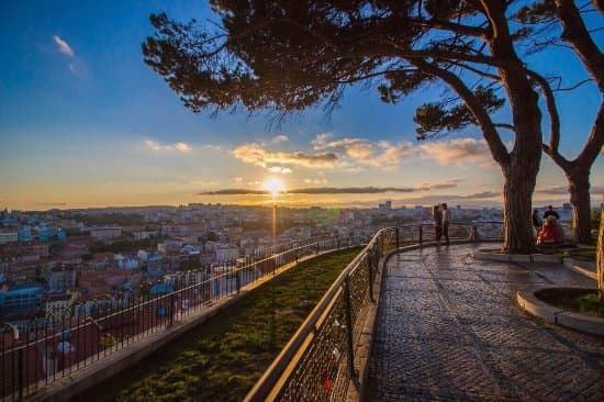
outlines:
[{"label": "dark metal railing with vertical bars overlooking the city rooftops", "polygon": [[[163,293],[101,298],[45,317],[0,328],[0,400],[21,401],[40,388],[90,366],[136,340],[200,314],[243,287],[301,258],[367,243],[360,237],[321,236],[267,248],[242,267],[215,267],[210,278]],[[18,335],[19,334],[19,335]]]}]

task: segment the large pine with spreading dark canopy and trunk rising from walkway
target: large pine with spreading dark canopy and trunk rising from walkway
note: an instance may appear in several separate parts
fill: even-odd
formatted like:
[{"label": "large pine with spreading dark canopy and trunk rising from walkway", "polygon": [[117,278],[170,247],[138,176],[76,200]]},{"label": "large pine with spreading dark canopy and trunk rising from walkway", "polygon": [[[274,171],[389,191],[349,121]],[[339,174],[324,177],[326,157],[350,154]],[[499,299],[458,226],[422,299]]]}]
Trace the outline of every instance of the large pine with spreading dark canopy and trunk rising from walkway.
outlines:
[{"label": "large pine with spreading dark canopy and trunk rising from walkway", "polygon": [[[601,2],[593,3],[590,10],[602,12]],[[282,115],[317,104],[333,108],[357,82],[376,87],[392,103],[425,86],[445,85],[450,97],[417,108],[418,137],[480,127],[506,180],[506,232],[516,233],[515,241],[506,239],[512,248],[526,249],[523,243],[532,237],[530,197],[543,146],[539,91],[547,96],[551,82],[532,71],[526,57],[566,41],[602,89],[604,63],[581,19],[585,7],[572,0],[211,4],[220,22],[152,15],[156,34],[143,45],[145,62],[188,108]],[[512,121],[494,121],[506,103]],[[553,133],[553,109],[547,111]],[[501,130],[514,134],[512,150]]]}]

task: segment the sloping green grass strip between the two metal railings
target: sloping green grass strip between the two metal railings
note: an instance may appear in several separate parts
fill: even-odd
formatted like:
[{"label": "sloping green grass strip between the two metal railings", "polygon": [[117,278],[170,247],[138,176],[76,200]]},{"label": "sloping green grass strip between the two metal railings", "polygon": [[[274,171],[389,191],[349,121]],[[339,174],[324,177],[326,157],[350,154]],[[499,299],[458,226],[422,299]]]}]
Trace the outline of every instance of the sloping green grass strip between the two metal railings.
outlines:
[{"label": "sloping green grass strip between the two metal railings", "polygon": [[78,400],[242,400],[360,250],[299,264]]}]

